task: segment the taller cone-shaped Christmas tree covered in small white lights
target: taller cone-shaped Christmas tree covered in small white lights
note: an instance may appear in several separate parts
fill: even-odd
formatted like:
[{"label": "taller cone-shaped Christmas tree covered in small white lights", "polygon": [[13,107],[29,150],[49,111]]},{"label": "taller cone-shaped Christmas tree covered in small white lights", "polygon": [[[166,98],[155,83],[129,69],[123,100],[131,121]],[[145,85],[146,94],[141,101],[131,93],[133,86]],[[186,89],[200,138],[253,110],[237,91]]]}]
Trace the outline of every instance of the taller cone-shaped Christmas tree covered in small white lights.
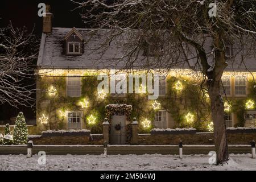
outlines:
[{"label": "taller cone-shaped Christmas tree covered in small white lights", "polygon": [[27,125],[22,112],[20,112],[15,121],[15,127],[13,131],[14,144],[26,144],[27,143]]}]

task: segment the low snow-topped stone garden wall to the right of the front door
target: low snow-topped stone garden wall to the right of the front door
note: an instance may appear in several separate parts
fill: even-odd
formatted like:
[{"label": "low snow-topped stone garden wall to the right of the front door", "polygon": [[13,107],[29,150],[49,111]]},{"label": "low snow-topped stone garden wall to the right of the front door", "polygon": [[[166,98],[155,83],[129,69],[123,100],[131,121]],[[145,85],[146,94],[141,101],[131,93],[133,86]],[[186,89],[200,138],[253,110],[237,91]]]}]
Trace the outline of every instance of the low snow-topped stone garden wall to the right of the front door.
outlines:
[{"label": "low snow-topped stone garden wall to the right of the front door", "polygon": [[[151,134],[138,134],[139,144],[214,144],[213,133],[168,133],[158,132]],[[254,130],[228,130],[228,144],[250,144],[256,140],[256,129]]]}]

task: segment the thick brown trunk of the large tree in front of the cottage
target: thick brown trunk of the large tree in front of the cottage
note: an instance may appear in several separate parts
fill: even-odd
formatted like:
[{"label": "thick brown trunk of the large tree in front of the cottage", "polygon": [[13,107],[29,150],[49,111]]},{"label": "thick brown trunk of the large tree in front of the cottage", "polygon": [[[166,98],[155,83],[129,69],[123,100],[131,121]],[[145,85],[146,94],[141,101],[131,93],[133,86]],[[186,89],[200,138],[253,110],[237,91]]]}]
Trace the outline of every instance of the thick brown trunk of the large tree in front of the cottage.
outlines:
[{"label": "thick brown trunk of the large tree in front of the cottage", "polygon": [[214,124],[214,144],[217,153],[217,164],[223,163],[229,158],[228,142],[226,134],[226,122],[224,119],[224,103],[220,94],[219,81],[208,84],[208,93]]}]

